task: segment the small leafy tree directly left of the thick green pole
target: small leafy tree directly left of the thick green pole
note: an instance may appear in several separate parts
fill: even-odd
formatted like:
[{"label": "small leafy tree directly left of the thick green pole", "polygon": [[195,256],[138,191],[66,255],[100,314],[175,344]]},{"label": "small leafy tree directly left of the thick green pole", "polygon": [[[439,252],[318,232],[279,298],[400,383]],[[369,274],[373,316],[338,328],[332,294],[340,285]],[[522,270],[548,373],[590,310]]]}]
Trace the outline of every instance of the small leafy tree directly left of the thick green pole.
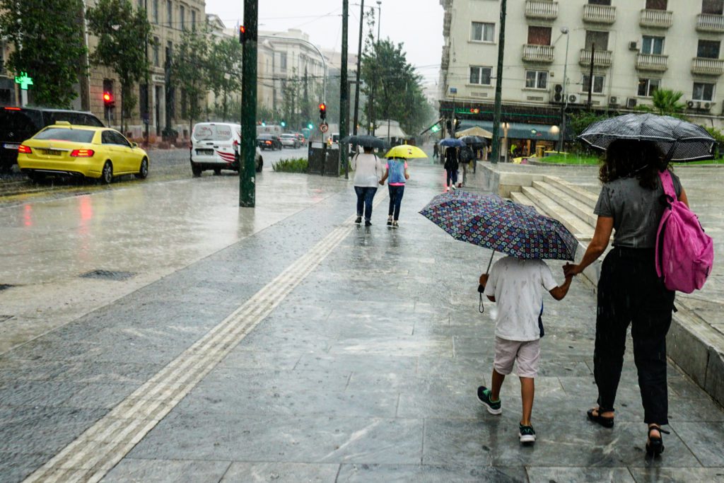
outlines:
[{"label": "small leafy tree directly left of the thick green pole", "polygon": [[209,52],[209,88],[214,91],[218,109],[222,98],[222,119],[229,114],[230,94],[241,90],[243,49],[235,38],[224,38],[211,44]]}]

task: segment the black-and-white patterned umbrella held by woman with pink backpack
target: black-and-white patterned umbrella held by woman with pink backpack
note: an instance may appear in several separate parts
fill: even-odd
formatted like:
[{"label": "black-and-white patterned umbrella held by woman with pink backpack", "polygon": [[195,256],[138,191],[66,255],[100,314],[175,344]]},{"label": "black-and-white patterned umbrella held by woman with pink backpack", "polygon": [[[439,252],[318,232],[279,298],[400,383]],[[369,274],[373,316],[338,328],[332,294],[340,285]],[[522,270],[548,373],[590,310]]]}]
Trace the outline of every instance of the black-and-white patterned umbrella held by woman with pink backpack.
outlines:
[{"label": "black-and-white patterned umbrella held by woman with pink backpack", "polygon": [[578,139],[605,151],[617,139],[657,143],[668,161],[712,159],[716,141],[704,127],[670,116],[625,114],[594,122]]}]

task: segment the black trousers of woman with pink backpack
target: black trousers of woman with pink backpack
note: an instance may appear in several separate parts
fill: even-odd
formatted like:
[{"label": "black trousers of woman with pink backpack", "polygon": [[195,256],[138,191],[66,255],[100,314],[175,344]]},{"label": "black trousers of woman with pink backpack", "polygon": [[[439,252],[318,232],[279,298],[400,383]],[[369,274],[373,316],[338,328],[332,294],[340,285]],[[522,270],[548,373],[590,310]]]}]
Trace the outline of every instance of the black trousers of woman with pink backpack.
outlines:
[{"label": "black trousers of woman with pink backpack", "polygon": [[601,411],[613,411],[631,324],[647,424],[668,424],[666,333],[674,293],[656,276],[654,249],[613,248],[598,282],[594,377]]}]

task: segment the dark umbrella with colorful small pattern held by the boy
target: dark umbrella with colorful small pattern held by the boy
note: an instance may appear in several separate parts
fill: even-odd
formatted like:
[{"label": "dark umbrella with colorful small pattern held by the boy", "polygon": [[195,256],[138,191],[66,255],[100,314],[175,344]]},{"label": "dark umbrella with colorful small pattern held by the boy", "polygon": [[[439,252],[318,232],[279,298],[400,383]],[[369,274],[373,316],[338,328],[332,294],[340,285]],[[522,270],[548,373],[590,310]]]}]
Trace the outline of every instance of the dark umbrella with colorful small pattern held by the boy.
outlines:
[{"label": "dark umbrella with colorful small pattern held by the boy", "polygon": [[573,260],[576,255],[578,241],[571,232],[532,206],[498,196],[471,197],[468,193],[457,201],[436,203],[436,196],[420,213],[455,240],[520,259]]}]

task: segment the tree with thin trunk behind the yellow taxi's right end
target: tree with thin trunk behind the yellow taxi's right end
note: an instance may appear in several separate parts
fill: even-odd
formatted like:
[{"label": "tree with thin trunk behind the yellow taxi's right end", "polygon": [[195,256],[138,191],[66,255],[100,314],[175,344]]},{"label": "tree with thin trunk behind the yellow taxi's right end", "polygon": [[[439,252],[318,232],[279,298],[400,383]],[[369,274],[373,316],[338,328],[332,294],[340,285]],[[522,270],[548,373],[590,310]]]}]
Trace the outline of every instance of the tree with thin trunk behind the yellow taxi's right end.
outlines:
[{"label": "tree with thin trunk behind the yellow taxi's right end", "polygon": [[86,15],[88,30],[98,37],[98,46],[90,54],[96,65],[110,67],[121,84],[121,131],[125,119],[135,107],[133,85],[148,72],[146,39],[151,35],[151,23],[146,10],[133,11],[128,0],[99,0]]}]

